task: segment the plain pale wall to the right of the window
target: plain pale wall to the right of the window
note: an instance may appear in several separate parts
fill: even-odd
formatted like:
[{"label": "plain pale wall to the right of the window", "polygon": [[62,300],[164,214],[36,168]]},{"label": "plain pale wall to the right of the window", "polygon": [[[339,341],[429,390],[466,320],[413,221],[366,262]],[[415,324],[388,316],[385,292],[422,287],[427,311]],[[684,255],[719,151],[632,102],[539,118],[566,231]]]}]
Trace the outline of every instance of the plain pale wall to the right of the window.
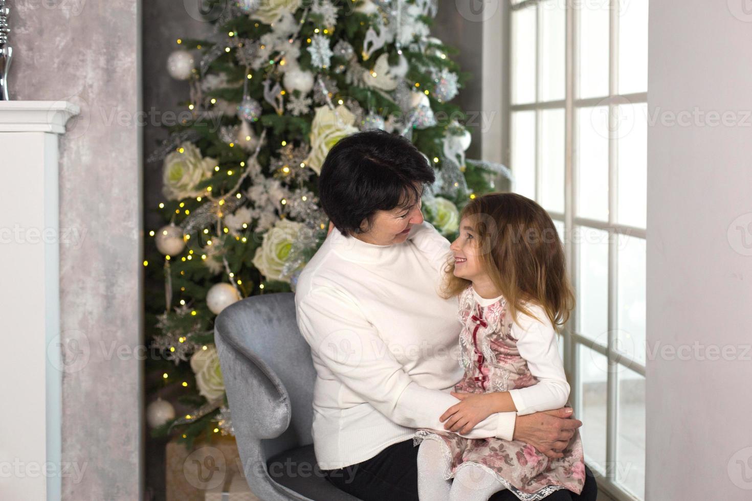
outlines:
[{"label": "plain pale wall to the right of the window", "polygon": [[645,499],[752,499],[752,12],[649,25]]}]

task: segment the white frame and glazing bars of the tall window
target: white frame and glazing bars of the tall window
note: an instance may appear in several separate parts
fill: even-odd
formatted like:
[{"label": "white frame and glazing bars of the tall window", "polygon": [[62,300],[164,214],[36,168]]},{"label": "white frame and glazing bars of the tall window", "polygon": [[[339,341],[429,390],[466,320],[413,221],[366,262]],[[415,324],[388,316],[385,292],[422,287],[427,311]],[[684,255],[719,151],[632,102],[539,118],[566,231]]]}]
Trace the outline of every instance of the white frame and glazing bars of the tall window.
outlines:
[{"label": "white frame and glazing bars of the tall window", "polygon": [[[625,104],[625,100],[630,104],[647,103],[647,92],[638,92],[632,94],[618,93],[618,65],[616,64],[619,55],[619,0],[610,1],[610,20],[609,20],[609,74],[608,74],[608,96],[599,96],[595,98],[576,98],[578,95],[578,15],[575,11],[575,5],[578,0],[566,0],[566,62],[565,62],[565,99],[558,101],[540,102],[540,74],[541,74],[541,9],[538,9],[536,16],[536,65],[535,65],[535,103],[532,104],[511,104],[511,12],[518,9],[527,8],[544,0],[523,0],[523,2],[512,5],[511,0],[502,2],[500,12],[490,21],[493,26],[501,26],[501,30],[493,29],[487,23],[484,29],[484,110],[499,110],[502,119],[496,121],[496,127],[484,131],[484,158],[501,156],[500,161],[510,165],[511,161],[511,113],[514,111],[534,110],[535,113],[535,198],[541,200],[541,161],[539,148],[540,137],[540,110],[553,108],[563,108],[565,110],[565,173],[564,173],[564,213],[549,211],[552,219],[563,222],[565,234],[572,235],[572,231],[578,226],[586,228],[596,228],[608,232],[608,345],[602,346],[588,337],[574,331],[576,325],[576,310],[572,312],[572,318],[563,330],[564,335],[564,363],[565,370],[569,381],[572,383],[572,404],[575,406],[575,412],[581,415],[582,396],[579,394],[580,377],[578,371],[578,346],[583,345],[593,349],[595,352],[605,356],[608,359],[608,379],[607,379],[607,423],[606,423],[606,464],[617,464],[616,445],[617,445],[617,404],[618,404],[618,379],[619,366],[629,367],[635,373],[645,376],[645,366],[638,361],[630,359],[623,352],[615,349],[617,340],[617,266],[618,266],[618,237],[619,235],[628,235],[629,237],[638,237],[643,240],[647,238],[645,228],[635,228],[629,225],[620,224],[617,221],[618,209],[618,186],[617,186],[617,134],[613,126],[616,119],[616,108],[618,104]],[[491,29],[488,29],[488,28]],[[498,47],[504,47],[499,54]],[[647,65],[647,62],[645,62]],[[487,71],[488,68],[488,71]],[[500,68],[500,71],[497,69]],[[501,83],[501,85],[499,85]],[[500,90],[500,92],[499,92]],[[575,179],[575,158],[578,144],[577,137],[577,112],[581,107],[593,107],[596,105],[608,105],[609,119],[609,139],[608,139],[608,222],[602,222],[594,219],[582,218],[575,216],[577,207],[578,193]],[[499,129],[502,129],[499,131]],[[502,137],[502,145],[499,145],[499,134]],[[488,146],[487,146],[488,145]],[[499,149],[501,150],[499,152]],[[511,166],[514,169],[514,165]],[[569,267],[569,273],[572,277],[572,285],[575,289],[578,287],[578,242],[575,239],[568,238],[565,242],[566,261]],[[647,422],[647,419],[646,419]],[[627,490],[624,490],[614,481],[614,468],[607,468],[605,475],[596,475],[599,487],[605,490],[614,499],[641,501],[632,496]]]}]

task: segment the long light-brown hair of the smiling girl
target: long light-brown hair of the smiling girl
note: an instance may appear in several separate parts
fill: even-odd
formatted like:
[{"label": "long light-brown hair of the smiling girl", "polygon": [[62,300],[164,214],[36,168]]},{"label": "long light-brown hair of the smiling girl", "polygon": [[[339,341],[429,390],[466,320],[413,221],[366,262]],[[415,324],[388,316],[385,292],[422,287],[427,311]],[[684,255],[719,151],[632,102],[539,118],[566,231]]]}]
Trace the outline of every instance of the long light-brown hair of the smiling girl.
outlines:
[{"label": "long light-brown hair of the smiling girl", "polygon": [[[566,323],[575,295],[562,242],[543,207],[516,193],[489,193],[470,201],[460,219],[475,229],[481,264],[507,300],[512,321],[518,312],[532,315],[525,305],[537,303],[555,328]],[[444,272],[444,297],[461,294],[472,283],[454,276],[453,259]]]}]

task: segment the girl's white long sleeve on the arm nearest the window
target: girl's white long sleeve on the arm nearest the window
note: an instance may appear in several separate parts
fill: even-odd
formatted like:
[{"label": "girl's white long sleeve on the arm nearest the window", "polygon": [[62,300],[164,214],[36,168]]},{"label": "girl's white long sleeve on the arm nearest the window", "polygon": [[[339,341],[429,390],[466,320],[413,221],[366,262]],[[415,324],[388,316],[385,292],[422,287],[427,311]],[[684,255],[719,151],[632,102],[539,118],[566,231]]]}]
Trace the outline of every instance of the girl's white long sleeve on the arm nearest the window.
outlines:
[{"label": "girl's white long sleeve on the arm nearest the window", "polygon": [[530,312],[540,320],[518,313],[517,322],[511,328],[520,356],[538,379],[535,385],[509,391],[517,415],[559,409],[569,398],[569,383],[559,356],[556,330],[540,306],[532,306]]}]

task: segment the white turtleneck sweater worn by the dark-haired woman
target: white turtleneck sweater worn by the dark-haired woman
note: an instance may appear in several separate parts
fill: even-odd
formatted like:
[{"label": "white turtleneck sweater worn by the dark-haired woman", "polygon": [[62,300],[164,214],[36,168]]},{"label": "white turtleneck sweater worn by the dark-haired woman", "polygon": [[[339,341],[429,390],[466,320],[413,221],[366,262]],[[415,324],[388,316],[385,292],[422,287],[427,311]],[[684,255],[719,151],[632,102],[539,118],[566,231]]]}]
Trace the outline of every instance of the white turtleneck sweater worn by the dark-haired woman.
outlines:
[{"label": "white turtleneck sweater worn by the dark-haired woman", "polygon": [[[300,274],[298,326],[311,346],[314,451],[321,469],[360,463],[418,427],[443,430],[462,379],[456,298],[441,299],[449,242],[428,222],[404,243],[377,246],[332,231]],[[514,412],[468,438],[511,440]]]}]

